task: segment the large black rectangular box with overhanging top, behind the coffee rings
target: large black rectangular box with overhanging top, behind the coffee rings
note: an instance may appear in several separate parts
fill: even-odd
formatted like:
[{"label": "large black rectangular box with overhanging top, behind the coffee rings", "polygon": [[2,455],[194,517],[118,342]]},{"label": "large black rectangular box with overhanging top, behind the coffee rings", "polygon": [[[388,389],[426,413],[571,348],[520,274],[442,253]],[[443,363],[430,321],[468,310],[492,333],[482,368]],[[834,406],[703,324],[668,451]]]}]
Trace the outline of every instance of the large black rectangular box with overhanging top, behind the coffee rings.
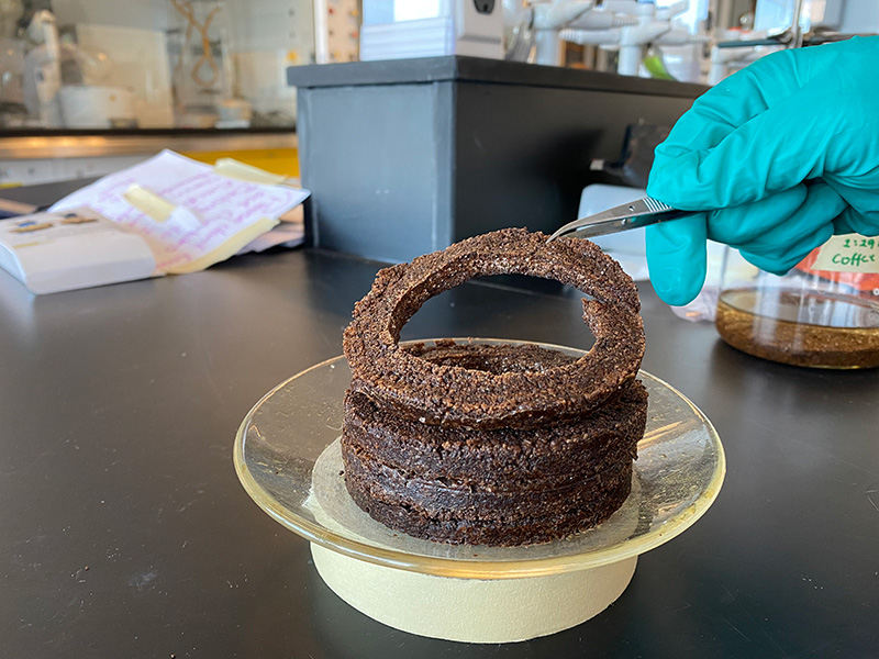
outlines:
[{"label": "large black rectangular box with overhanging top, behind the coffee rings", "polygon": [[291,67],[315,247],[409,260],[505,226],[552,232],[608,182],[626,126],[706,88],[474,57]]}]

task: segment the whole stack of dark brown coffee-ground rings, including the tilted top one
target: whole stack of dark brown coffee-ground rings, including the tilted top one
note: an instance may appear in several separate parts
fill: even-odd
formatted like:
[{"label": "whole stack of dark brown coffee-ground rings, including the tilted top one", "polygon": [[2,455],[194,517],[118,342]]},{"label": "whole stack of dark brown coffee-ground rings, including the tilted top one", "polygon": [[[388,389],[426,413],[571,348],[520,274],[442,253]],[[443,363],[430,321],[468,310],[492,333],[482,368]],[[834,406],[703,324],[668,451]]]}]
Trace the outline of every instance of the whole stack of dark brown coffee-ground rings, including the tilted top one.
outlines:
[{"label": "whole stack of dark brown coffee-ground rings, including the tilted top one", "polygon": [[[556,279],[590,295],[596,344],[400,346],[431,297],[482,275]],[[381,270],[345,332],[345,483],[375,520],[446,543],[512,546],[607,520],[630,493],[647,393],[632,280],[587,241],[503,230]]]}]

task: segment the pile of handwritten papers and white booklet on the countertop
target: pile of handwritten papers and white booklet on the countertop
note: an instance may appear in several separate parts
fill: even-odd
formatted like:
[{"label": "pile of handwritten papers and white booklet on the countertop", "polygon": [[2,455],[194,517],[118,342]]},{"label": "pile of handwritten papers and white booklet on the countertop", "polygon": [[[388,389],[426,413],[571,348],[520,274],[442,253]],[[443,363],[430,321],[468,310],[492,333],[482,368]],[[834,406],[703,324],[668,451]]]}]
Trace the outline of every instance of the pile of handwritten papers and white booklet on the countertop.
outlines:
[{"label": "pile of handwritten papers and white booklet on the countertop", "polygon": [[37,294],[196,272],[235,254],[301,243],[308,196],[283,176],[166,150],[48,213],[0,221],[0,268]]}]

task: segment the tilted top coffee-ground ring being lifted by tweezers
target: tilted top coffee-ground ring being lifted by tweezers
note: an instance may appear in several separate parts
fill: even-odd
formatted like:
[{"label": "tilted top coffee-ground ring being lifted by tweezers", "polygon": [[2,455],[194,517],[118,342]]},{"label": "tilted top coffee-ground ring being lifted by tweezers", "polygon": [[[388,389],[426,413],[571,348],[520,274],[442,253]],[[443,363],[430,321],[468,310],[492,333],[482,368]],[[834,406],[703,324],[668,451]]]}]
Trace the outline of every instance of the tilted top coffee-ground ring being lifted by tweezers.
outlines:
[{"label": "tilted top coffee-ground ring being lifted by tweezers", "polygon": [[[407,418],[469,428],[534,427],[587,414],[637,373],[644,327],[634,281],[588,241],[505,228],[380,270],[354,308],[343,347],[352,391]],[[596,337],[570,365],[504,372],[431,364],[403,350],[400,331],[422,304],[475,277],[526,275],[572,286]]]}]

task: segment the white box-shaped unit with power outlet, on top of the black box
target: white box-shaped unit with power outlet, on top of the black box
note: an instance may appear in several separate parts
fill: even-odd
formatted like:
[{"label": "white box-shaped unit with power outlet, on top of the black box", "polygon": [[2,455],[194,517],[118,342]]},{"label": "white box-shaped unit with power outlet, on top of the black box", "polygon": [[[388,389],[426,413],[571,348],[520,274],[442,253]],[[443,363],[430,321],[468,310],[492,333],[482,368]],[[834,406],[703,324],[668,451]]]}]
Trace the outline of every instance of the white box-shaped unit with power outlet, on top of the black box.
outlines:
[{"label": "white box-shaped unit with power outlet, on top of the black box", "polygon": [[363,4],[363,60],[503,58],[502,9],[494,0],[364,0]]}]

